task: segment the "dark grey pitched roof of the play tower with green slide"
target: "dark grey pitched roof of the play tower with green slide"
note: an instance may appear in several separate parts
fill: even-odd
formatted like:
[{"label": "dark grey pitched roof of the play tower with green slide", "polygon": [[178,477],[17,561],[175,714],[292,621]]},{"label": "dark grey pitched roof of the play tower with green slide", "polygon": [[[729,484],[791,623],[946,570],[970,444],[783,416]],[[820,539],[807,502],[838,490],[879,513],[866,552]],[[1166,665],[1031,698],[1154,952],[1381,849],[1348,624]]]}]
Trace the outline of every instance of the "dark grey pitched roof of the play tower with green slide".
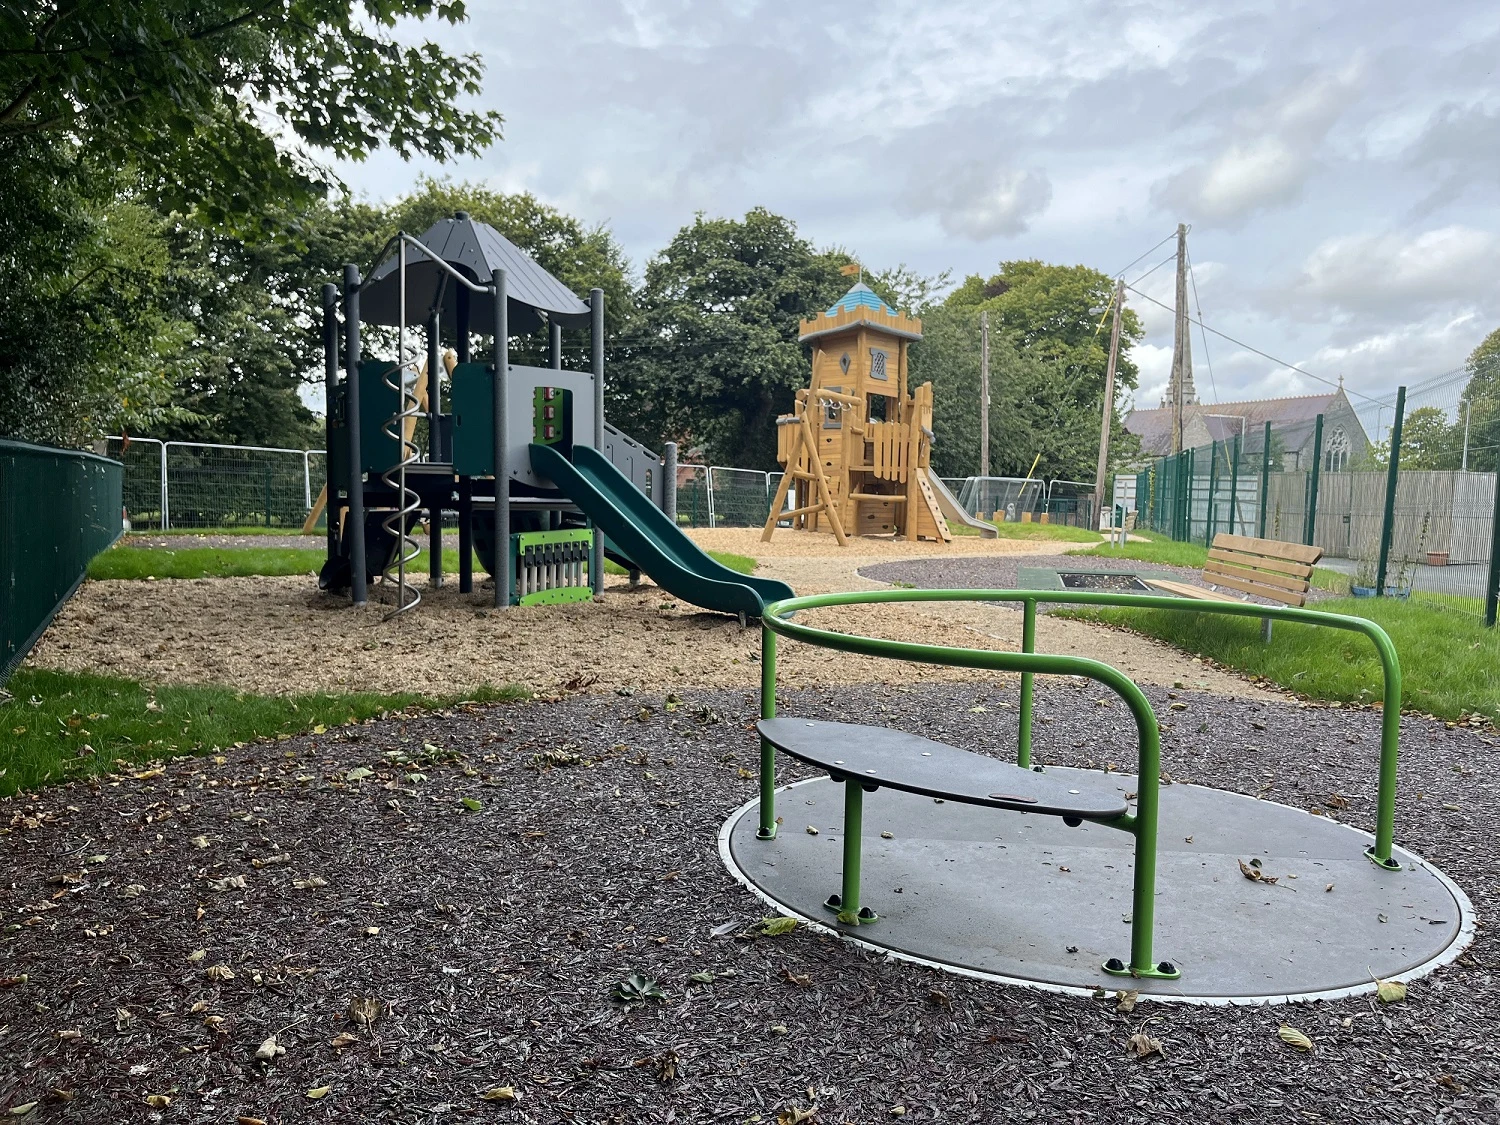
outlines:
[{"label": "dark grey pitched roof of the play tower with green slide", "polygon": [[[588,304],[489,224],[476,222],[459,212],[453,219],[434,224],[420,236],[420,242],[480,285],[488,285],[495,270],[506,272],[513,336],[536,332],[546,320],[566,327],[588,324]],[[458,333],[456,291],[462,286],[417,248],[402,243],[402,250],[406,255],[406,326],[420,327],[426,322],[441,292],[441,328],[452,339]],[[399,264],[393,252],[360,288],[360,320],[366,324],[399,322]],[[495,333],[495,312],[488,294],[470,294],[470,332],[484,336]]]}]

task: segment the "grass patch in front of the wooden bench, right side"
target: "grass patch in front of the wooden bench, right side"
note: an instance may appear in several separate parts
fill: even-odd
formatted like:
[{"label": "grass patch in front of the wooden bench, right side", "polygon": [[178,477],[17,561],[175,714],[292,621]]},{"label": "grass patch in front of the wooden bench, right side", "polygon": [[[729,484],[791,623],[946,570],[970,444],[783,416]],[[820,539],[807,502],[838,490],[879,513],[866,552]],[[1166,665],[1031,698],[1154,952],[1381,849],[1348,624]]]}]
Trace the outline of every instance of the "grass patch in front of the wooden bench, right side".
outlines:
[{"label": "grass patch in front of the wooden bench, right side", "polygon": [[[1401,657],[1402,706],[1440,718],[1500,720],[1500,630],[1478,616],[1400,598],[1329,598],[1316,609],[1364,616],[1390,634]],[[1380,699],[1380,662],[1358,633],[1278,621],[1270,644],[1260,621],[1152,609],[1066,610],[1166,640],[1316,699]]]}]

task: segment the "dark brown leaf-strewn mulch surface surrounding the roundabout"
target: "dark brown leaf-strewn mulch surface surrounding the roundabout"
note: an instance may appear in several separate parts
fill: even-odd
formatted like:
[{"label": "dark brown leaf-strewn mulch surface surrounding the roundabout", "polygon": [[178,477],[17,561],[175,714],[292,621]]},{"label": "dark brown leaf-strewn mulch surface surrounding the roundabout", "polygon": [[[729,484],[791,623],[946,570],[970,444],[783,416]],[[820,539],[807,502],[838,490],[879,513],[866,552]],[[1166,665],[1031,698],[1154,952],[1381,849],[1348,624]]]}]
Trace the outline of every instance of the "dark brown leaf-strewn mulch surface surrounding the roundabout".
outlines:
[{"label": "dark brown leaf-strewn mulch surface surrounding the roundabout", "polygon": [[[1044,758],[1132,762],[1120,705],[1106,716],[1098,694],[1040,692]],[[1154,692],[1178,780],[1372,819],[1374,712],[1172,702],[1184,710]],[[970,748],[1004,744],[1011,708],[986,684],[784,700]],[[720,690],[398,716],[0,802],[0,1113],[1500,1120],[1488,928],[1400,1004],[1134,1011],[891,962],[804,926],[758,933],[766,910],[716,843],[754,794],[754,714],[753,696]],[[1422,718],[1402,732],[1398,840],[1488,918],[1494,738]],[[1282,1042],[1282,1022],[1314,1048]],[[1161,1053],[1137,1058],[1137,1034]]]}]

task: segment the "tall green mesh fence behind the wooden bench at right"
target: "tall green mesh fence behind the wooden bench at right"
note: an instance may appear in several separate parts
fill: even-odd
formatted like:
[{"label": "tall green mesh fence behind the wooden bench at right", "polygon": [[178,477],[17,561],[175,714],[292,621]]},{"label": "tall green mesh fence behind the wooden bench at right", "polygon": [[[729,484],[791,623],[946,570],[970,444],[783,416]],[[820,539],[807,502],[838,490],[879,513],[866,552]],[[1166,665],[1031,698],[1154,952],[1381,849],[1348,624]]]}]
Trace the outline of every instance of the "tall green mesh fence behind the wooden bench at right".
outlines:
[{"label": "tall green mesh fence behind the wooden bench at right", "polygon": [[1218,532],[1316,544],[1359,597],[1425,600],[1494,626],[1500,444],[1482,440],[1467,376],[1377,405],[1374,434],[1352,414],[1242,420],[1244,432],[1158,458],[1136,477],[1137,525],[1204,546]]}]

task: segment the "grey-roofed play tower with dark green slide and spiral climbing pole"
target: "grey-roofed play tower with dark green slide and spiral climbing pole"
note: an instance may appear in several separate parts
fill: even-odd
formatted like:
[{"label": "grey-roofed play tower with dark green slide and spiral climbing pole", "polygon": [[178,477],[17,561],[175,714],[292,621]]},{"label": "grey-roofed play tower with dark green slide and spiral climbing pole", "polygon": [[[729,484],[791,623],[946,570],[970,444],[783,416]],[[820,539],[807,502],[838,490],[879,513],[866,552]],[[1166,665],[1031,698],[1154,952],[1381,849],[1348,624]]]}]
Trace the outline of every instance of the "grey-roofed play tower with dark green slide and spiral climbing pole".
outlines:
[{"label": "grey-roofed play tower with dark green slide and spiral climbing pole", "polygon": [[[394,328],[394,354],[366,356],[364,326]],[[562,333],[578,328],[590,370],[562,368]],[[510,339],[542,330],[550,366],[510,363]],[[489,338],[486,358],[476,336]],[[368,279],[345,266],[342,291],[322,286],[322,348],[326,590],[362,604],[384,574],[394,612],[411,609],[411,531],[424,514],[429,584],[441,585],[442,513],[454,512],[459,590],[472,591],[477,554],[496,606],[588,598],[606,556],[706,609],[759,614],[792,596],[716,562],[652,500],[669,496],[672,472],[604,422],[603,291],[582,302],[492,226],[459,212],[396,234]]]}]

